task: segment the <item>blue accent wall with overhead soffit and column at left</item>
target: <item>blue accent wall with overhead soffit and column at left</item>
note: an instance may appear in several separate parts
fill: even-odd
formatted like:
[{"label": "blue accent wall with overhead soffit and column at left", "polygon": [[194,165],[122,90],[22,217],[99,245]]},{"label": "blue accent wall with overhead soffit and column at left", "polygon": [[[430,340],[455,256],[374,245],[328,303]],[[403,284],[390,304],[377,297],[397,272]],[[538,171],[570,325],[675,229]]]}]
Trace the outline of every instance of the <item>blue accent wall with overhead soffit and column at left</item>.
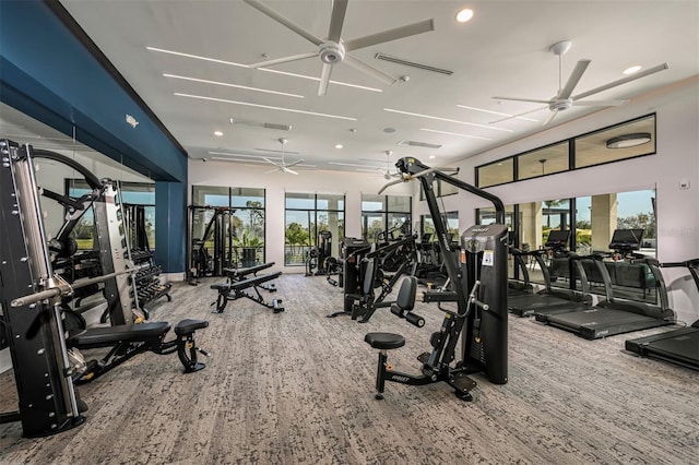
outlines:
[{"label": "blue accent wall with overhead soffit and column at left", "polygon": [[156,260],[185,270],[187,153],[60,3],[0,0],[0,100],[155,180]]}]

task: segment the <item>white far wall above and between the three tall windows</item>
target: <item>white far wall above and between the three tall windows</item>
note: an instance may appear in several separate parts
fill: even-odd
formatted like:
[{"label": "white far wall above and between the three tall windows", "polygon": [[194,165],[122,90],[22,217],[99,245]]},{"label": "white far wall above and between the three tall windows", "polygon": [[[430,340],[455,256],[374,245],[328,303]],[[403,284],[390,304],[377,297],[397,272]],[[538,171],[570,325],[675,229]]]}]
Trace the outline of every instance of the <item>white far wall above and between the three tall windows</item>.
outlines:
[{"label": "white far wall above and between the three tall windows", "polygon": [[[265,259],[274,262],[274,270],[304,273],[303,266],[284,266],[284,199],[286,192],[332,193],[345,195],[345,235],[362,237],[362,194],[376,194],[388,181],[381,172],[355,174],[323,170],[298,170],[298,176],[270,172],[269,167],[249,167],[217,160],[190,160],[188,202],[191,186],[222,186],[235,188],[264,188],[265,191]],[[384,192],[390,195],[412,195],[414,186],[399,184]]]}]

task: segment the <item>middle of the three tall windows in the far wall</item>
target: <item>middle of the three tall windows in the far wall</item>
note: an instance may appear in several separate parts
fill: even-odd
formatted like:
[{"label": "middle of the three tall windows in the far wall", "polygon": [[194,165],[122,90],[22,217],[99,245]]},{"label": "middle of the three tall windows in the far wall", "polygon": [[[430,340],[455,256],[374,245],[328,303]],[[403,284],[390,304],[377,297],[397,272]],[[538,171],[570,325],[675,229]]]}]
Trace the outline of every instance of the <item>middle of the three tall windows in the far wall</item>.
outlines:
[{"label": "middle of the three tall windows in the far wall", "polygon": [[284,265],[305,265],[322,231],[330,233],[331,255],[340,257],[340,240],[345,236],[344,195],[287,192],[285,208]]}]

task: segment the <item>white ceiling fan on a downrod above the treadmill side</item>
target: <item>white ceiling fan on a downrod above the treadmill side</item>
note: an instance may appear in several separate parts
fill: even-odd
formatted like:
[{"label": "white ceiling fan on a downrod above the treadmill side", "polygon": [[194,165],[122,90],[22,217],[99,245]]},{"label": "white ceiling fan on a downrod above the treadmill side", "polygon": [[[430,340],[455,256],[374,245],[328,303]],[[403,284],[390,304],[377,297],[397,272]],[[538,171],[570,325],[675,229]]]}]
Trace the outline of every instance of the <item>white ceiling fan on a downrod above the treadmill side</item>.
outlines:
[{"label": "white ceiling fan on a downrod above the treadmill side", "polygon": [[561,79],[562,56],[570,49],[570,46],[571,46],[571,43],[569,40],[562,40],[550,46],[549,50],[554,55],[558,56],[558,94],[556,94],[549,100],[542,100],[542,99],[535,99],[535,98],[519,98],[519,97],[493,97],[497,100],[532,102],[535,104],[546,104],[545,107],[543,108],[540,107],[534,110],[525,111],[523,114],[509,116],[507,118],[502,118],[497,121],[490,121],[490,123],[493,124],[493,123],[505,121],[511,118],[518,118],[524,115],[529,115],[529,114],[548,108],[550,110],[550,114],[542,124],[542,126],[546,126],[553,121],[553,119],[556,117],[556,115],[558,115],[559,111],[567,110],[568,108],[573,106],[576,107],[577,106],[616,107],[619,105],[624,105],[628,100],[583,100],[583,98],[587,98],[594,94],[599,94],[608,88],[616,87],[621,84],[626,84],[627,82],[636,81],[649,74],[653,74],[659,71],[666,70],[668,68],[667,63],[659,64],[656,67],[649,68],[641,72],[631,74],[629,76],[621,78],[620,80],[601,85],[599,87],[593,88],[592,91],[583,92],[578,95],[572,95],[573,90],[580,82],[580,79],[582,78],[585,70],[588,69],[588,65],[590,65],[591,60],[587,60],[587,59],[579,60],[578,63],[576,64],[576,68],[570,73],[570,76],[568,76],[568,81],[566,82],[566,85],[562,85],[562,79]]}]

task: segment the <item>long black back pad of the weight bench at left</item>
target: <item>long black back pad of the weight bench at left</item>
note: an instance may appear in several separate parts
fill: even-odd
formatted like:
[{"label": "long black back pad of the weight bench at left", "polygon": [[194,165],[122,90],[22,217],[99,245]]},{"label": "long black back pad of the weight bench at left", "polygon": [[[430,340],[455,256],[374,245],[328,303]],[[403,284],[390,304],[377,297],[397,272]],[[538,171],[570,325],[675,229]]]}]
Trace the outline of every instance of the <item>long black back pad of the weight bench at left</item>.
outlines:
[{"label": "long black back pad of the weight bench at left", "polygon": [[75,335],[71,345],[76,347],[102,347],[119,342],[146,342],[157,339],[170,331],[167,321],[156,321],[134,325],[93,327]]}]

